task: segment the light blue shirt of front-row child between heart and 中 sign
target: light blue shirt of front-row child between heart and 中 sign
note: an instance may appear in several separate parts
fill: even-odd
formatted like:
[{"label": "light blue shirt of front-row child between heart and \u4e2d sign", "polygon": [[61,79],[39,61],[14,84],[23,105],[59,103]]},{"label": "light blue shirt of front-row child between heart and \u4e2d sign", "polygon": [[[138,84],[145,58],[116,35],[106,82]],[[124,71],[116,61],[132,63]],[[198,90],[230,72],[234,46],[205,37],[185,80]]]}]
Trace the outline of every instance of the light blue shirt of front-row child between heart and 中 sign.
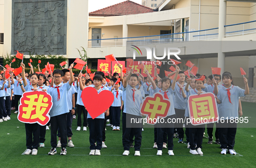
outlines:
[{"label": "light blue shirt of front-row child between heart and \u4e2d sign", "polygon": [[126,88],[123,87],[123,113],[140,115],[140,105],[143,102],[141,92],[135,88],[133,101],[133,88],[128,84]]}]

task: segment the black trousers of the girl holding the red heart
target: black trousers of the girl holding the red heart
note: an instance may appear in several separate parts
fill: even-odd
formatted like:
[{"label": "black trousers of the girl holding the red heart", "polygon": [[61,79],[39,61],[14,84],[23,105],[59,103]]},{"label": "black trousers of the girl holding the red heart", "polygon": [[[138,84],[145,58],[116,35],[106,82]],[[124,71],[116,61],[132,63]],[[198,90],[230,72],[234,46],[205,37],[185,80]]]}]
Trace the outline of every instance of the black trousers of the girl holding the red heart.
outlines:
[{"label": "black trousers of the girl holding the red heart", "polygon": [[[102,146],[102,129],[104,125],[104,119],[88,118],[88,124],[90,130],[90,150],[100,150]],[[95,145],[95,142],[97,142],[97,146]]]}]

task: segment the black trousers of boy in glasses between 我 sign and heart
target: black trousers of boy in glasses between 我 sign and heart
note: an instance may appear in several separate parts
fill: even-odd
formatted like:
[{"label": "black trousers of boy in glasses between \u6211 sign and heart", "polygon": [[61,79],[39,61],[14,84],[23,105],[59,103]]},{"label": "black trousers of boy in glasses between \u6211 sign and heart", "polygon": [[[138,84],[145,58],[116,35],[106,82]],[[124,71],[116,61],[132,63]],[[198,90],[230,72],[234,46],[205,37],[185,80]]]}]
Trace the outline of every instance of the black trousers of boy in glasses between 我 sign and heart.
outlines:
[{"label": "black trousers of boy in glasses between \u6211 sign and heart", "polygon": [[51,145],[53,148],[57,147],[57,130],[59,128],[60,136],[61,136],[61,144],[62,147],[67,146],[67,114],[64,113],[58,116],[52,116],[51,123]]}]

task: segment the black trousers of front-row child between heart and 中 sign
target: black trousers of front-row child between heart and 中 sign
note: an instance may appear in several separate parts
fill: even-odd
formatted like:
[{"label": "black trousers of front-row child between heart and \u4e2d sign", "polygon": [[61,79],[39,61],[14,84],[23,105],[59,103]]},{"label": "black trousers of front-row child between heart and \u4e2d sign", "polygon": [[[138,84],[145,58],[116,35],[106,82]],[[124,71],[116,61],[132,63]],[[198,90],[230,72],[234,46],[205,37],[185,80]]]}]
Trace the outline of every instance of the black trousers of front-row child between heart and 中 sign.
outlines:
[{"label": "black trousers of front-row child between heart and \u4e2d sign", "polygon": [[[139,128],[126,128],[126,113],[122,114],[122,121],[123,121],[123,149],[125,151],[130,150],[130,133],[133,131],[135,136],[134,139],[134,150],[140,151],[141,140],[142,140],[142,126]],[[138,116],[135,116],[136,118]]]}]

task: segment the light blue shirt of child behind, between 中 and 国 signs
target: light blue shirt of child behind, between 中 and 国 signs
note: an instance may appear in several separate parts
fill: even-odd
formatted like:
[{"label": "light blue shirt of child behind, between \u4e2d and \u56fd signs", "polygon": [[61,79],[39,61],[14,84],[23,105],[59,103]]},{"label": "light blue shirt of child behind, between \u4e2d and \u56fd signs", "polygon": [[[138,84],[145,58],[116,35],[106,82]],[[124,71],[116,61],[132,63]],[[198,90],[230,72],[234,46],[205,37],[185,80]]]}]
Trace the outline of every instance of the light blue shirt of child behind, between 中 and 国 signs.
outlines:
[{"label": "light blue shirt of child behind, between \u4e2d and \u56fd signs", "polygon": [[[178,84],[180,84],[180,83],[178,82]],[[175,83],[174,108],[185,110],[187,100],[184,100],[182,93],[181,93],[181,88],[178,87],[178,84],[177,84],[177,82]],[[186,85],[187,85],[187,83],[184,82],[184,85],[182,86],[184,93],[186,93],[186,90],[185,90]],[[188,89],[190,89],[190,86],[188,86]]]}]

